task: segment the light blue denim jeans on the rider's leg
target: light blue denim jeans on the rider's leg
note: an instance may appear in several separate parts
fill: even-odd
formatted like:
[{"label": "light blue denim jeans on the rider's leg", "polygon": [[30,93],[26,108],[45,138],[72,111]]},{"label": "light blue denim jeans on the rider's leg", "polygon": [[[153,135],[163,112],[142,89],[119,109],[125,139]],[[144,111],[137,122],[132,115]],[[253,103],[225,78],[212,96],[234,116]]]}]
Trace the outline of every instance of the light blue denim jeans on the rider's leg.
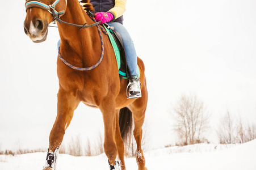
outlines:
[{"label": "light blue denim jeans on the rider's leg", "polygon": [[115,30],[120,33],[123,39],[125,54],[127,58],[127,65],[129,67],[129,70],[131,71],[131,75],[137,75],[137,54],[129,32],[119,22],[108,22],[107,24],[111,27],[114,27]]}]

